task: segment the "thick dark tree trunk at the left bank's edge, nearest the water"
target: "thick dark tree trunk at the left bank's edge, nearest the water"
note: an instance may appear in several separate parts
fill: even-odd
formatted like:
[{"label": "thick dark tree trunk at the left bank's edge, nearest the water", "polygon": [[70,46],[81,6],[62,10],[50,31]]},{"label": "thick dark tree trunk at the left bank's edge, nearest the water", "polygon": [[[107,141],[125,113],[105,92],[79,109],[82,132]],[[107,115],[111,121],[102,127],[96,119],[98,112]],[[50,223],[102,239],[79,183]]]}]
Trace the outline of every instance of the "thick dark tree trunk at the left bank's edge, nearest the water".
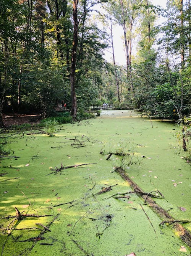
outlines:
[{"label": "thick dark tree trunk at the left bank's edge, nearest the water", "polygon": [[77,45],[78,45],[78,0],[73,1],[73,47],[71,53],[71,71],[70,71],[70,83],[71,83],[71,103],[72,109],[71,114],[73,120],[76,119],[77,115],[77,100],[75,92],[75,70],[76,70],[76,54],[77,54]]}]

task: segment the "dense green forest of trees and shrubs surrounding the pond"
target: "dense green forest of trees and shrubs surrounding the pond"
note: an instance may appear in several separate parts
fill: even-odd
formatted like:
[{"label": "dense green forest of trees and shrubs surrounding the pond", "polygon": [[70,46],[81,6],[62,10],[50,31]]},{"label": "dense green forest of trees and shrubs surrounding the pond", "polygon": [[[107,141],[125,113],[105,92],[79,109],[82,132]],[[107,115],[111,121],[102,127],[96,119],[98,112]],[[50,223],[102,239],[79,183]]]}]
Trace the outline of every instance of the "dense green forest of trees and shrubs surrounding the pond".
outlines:
[{"label": "dense green forest of trees and shrubs surrounding the pond", "polygon": [[[126,66],[115,63],[116,24]],[[168,0],[165,10],[149,0],[2,0],[0,126],[3,112],[50,116],[61,101],[74,119],[97,101],[189,116],[190,25],[189,0]],[[110,47],[113,63],[104,59]]]}]

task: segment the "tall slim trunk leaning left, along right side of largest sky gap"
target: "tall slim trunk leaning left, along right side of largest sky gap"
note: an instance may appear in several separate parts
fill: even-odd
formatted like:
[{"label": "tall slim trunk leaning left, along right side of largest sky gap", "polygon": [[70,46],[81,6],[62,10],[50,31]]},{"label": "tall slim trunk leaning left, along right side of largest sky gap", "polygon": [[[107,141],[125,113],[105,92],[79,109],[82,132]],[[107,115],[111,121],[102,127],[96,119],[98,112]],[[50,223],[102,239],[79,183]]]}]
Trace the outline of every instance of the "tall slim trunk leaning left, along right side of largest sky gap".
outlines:
[{"label": "tall slim trunk leaning left, along right side of largest sky gap", "polygon": [[124,33],[124,39],[125,39],[127,71],[129,71],[130,88],[131,88],[131,93],[134,97],[133,79],[132,79],[131,64],[130,64],[130,59],[129,59],[129,49],[128,49],[127,37],[126,37],[126,22],[125,22],[124,8],[123,8],[123,0],[120,0],[120,3],[121,3],[121,11],[122,11],[122,16],[123,16],[123,25],[122,26],[123,26],[123,33]]}]

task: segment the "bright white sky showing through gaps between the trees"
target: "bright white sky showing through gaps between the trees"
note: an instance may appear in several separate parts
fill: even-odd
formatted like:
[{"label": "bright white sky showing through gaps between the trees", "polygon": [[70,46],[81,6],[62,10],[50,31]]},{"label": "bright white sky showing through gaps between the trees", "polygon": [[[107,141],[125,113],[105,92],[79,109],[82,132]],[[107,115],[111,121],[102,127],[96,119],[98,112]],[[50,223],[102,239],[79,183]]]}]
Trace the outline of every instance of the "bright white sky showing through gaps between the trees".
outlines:
[{"label": "bright white sky showing through gaps between the trees", "polygon": [[[162,8],[166,8],[167,0],[151,0],[153,5],[160,5]],[[159,18],[157,23],[162,23],[163,20]],[[114,52],[115,52],[115,62],[118,65],[126,65],[126,54],[124,48],[124,40],[122,39],[123,36],[123,28],[119,25],[113,26],[113,45],[114,45]],[[133,51],[135,51],[135,46]],[[108,49],[112,52],[112,49]],[[113,62],[112,53],[105,51],[105,59],[108,62]]]}]

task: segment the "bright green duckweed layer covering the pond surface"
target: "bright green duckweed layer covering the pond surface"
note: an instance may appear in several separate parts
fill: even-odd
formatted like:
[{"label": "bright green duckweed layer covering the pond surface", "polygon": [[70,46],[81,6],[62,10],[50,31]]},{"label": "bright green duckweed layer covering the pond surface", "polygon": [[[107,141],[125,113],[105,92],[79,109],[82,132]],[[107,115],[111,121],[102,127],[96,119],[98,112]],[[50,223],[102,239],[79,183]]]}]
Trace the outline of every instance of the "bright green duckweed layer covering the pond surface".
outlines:
[{"label": "bright green duckweed layer covering the pond surface", "polygon": [[[189,255],[190,165],[177,130],[136,112],[103,111],[57,126],[54,137],[1,134],[12,156],[0,162],[1,255]],[[180,230],[148,198],[182,221]]]}]

